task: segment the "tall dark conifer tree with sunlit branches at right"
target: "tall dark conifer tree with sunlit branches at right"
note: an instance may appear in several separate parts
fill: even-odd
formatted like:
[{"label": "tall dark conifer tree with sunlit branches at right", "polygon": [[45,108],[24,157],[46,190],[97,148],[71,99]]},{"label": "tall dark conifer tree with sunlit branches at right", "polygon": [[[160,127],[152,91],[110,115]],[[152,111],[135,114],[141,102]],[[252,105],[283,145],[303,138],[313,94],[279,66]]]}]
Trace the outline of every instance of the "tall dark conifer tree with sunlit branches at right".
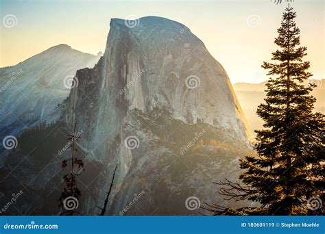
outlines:
[{"label": "tall dark conifer tree with sunlit branches at right", "polygon": [[[240,161],[242,183],[217,183],[226,199],[250,200],[253,206],[234,209],[208,205],[215,215],[306,215],[324,213],[324,115],[313,113],[315,85],[304,85],[311,73],[302,59],[296,12],[288,6],[282,14],[272,53],[267,97],[258,106],[264,129],[255,131],[261,142],[257,156]],[[306,82],[305,82],[306,83]]]}]

